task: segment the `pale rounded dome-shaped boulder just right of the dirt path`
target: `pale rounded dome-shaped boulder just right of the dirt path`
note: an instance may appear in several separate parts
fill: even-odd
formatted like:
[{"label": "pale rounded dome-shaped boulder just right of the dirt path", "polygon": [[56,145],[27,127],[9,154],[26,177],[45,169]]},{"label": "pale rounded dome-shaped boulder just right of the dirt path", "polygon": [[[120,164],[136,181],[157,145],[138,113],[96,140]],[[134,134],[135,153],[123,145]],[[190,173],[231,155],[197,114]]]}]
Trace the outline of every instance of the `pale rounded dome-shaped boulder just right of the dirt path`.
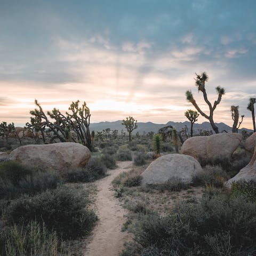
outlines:
[{"label": "pale rounded dome-shaped boulder just right of the dirt path", "polygon": [[141,174],[141,185],[161,185],[172,179],[190,183],[198,171],[202,171],[202,167],[194,157],[167,154],[153,161]]}]

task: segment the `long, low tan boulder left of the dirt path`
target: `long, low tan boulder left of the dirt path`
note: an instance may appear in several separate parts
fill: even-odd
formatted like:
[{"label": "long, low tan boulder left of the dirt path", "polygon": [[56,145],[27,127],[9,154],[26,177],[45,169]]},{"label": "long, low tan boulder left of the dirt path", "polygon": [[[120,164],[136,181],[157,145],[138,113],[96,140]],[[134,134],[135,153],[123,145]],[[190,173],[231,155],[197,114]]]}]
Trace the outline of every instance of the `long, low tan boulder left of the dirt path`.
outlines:
[{"label": "long, low tan boulder left of the dirt path", "polygon": [[14,149],[9,159],[39,169],[63,170],[82,167],[90,158],[90,150],[74,142],[27,145]]}]

